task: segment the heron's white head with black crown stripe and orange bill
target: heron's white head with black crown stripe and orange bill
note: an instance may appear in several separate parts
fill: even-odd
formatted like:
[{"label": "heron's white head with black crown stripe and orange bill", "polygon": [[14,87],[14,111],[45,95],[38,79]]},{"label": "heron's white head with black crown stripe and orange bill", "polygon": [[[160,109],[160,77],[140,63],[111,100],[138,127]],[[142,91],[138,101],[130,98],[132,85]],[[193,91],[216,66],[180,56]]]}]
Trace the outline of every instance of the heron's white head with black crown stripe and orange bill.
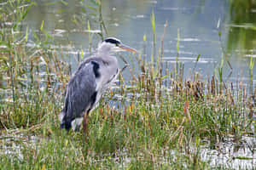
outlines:
[{"label": "heron's white head with black crown stripe and orange bill", "polygon": [[136,49],[130,48],[115,37],[106,38],[102,43],[99,44],[98,51],[105,54],[117,51],[131,51],[137,53]]}]

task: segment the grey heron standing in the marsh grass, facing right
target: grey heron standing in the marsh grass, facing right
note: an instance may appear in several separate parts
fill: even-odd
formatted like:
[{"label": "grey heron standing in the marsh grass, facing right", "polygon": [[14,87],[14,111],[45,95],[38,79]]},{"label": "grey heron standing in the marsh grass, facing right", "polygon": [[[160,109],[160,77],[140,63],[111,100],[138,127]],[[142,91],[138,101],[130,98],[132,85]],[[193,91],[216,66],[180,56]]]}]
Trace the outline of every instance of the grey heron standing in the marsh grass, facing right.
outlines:
[{"label": "grey heron standing in the marsh grass, facing right", "polygon": [[72,127],[76,132],[83,122],[84,131],[87,131],[90,111],[119,74],[118,60],[112,55],[116,49],[137,53],[114,37],[100,43],[96,54],[79,65],[67,84],[64,107],[59,115],[61,128],[68,131]]}]

